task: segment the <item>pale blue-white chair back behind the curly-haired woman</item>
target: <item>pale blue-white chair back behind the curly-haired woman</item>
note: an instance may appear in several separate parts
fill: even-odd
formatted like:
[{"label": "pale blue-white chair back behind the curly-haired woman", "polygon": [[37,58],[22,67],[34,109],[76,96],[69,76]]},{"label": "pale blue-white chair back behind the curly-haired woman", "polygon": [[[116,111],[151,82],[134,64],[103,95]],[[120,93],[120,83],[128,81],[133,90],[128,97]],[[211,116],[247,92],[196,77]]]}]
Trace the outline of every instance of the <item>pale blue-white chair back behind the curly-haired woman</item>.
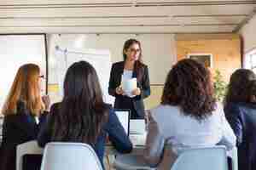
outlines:
[{"label": "pale blue-white chair back behind the curly-haired woman", "polygon": [[223,146],[183,151],[171,170],[228,170],[226,149]]}]

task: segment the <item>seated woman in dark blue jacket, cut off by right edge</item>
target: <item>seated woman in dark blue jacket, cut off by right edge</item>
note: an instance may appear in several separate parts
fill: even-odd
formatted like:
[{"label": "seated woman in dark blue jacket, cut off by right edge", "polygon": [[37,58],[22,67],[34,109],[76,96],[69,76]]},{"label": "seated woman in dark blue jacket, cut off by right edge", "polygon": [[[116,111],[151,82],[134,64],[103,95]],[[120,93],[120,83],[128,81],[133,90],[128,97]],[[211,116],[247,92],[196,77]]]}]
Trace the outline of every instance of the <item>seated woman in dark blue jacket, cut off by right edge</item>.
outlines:
[{"label": "seated woman in dark blue jacket, cut off by right edge", "polygon": [[238,168],[256,169],[256,75],[247,69],[230,77],[224,112],[236,134]]}]

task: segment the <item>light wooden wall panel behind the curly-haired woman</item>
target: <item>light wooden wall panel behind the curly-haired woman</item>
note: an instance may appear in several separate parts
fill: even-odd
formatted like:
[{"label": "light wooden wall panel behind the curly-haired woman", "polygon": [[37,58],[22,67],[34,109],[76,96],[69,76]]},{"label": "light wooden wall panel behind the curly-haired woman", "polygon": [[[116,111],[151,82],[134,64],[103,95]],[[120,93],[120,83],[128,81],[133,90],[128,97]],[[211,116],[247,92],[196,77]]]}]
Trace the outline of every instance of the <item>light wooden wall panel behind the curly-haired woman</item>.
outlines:
[{"label": "light wooden wall panel behind the curly-haired woman", "polygon": [[219,70],[224,80],[229,82],[230,75],[241,68],[241,40],[236,34],[177,35],[177,60],[184,59],[187,54],[203,53],[213,55],[214,74]]}]

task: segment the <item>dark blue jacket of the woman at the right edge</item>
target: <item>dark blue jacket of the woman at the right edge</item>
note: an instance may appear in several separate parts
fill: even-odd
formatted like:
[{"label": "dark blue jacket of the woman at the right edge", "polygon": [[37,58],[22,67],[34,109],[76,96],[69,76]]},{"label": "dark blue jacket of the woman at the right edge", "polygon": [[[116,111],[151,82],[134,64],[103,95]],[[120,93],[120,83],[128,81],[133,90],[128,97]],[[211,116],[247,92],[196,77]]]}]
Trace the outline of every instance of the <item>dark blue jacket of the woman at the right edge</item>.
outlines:
[{"label": "dark blue jacket of the woman at the right edge", "polygon": [[256,169],[256,104],[228,103],[224,112],[236,134],[238,169]]}]

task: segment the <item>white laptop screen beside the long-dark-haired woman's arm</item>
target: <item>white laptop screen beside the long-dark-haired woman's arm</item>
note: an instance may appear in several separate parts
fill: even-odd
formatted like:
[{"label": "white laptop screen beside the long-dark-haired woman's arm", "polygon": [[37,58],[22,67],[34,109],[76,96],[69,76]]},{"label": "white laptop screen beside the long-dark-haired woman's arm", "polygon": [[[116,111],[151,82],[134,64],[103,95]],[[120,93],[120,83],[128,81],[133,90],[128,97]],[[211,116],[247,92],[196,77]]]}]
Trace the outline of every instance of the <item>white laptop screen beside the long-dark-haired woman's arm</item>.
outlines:
[{"label": "white laptop screen beside the long-dark-haired woman's arm", "polygon": [[115,110],[116,116],[119,118],[119,122],[125,129],[125,133],[129,136],[130,133],[130,110]]}]

